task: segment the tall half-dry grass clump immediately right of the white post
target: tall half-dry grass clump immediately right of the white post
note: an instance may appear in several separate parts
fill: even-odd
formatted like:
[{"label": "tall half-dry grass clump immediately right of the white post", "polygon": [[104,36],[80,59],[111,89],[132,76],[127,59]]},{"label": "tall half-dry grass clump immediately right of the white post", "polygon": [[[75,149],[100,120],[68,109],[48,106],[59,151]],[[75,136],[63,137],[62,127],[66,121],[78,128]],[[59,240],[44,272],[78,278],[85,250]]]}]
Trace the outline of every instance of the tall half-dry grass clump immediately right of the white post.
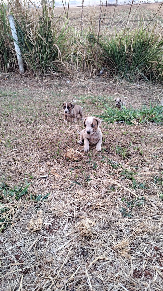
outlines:
[{"label": "tall half-dry grass clump immediately right of the white post", "polygon": [[55,74],[65,70],[62,52],[65,47],[66,29],[58,27],[54,19],[54,7],[42,2],[42,12],[36,6],[29,7],[24,2],[14,10],[21,15],[15,17],[18,40],[25,68],[36,75]]}]

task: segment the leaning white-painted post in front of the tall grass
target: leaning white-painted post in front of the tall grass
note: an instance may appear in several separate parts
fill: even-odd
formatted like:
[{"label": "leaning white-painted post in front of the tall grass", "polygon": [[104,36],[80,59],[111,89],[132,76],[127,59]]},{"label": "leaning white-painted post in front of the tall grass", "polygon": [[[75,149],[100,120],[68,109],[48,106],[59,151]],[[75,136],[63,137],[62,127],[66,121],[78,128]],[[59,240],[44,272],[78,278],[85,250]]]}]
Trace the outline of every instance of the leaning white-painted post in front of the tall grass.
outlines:
[{"label": "leaning white-painted post in front of the tall grass", "polygon": [[22,57],[21,57],[20,47],[18,45],[18,37],[17,37],[17,31],[16,31],[16,28],[15,28],[15,22],[14,22],[13,15],[8,15],[8,20],[10,22],[12,37],[14,39],[14,46],[15,46],[15,51],[16,51],[16,54],[17,54],[19,72],[20,72],[20,74],[24,74],[23,60],[22,60]]}]

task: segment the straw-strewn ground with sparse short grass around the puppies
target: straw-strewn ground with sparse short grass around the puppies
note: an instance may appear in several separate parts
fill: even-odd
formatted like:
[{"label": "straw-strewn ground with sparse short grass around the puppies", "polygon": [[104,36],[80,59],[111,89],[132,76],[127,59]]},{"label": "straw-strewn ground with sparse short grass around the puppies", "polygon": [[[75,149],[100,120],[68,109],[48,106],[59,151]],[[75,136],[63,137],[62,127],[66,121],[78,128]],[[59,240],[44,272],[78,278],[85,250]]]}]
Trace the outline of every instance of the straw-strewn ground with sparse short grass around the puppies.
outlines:
[{"label": "straw-strewn ground with sparse short grass around the puppies", "polygon": [[[102,152],[85,154],[83,123],[62,123],[66,100],[85,117],[117,96],[140,108],[161,95],[143,84],[1,79],[1,185],[30,184],[22,197],[0,193],[1,290],[162,290],[162,125],[103,123]],[[81,154],[64,157],[70,148]]]}]

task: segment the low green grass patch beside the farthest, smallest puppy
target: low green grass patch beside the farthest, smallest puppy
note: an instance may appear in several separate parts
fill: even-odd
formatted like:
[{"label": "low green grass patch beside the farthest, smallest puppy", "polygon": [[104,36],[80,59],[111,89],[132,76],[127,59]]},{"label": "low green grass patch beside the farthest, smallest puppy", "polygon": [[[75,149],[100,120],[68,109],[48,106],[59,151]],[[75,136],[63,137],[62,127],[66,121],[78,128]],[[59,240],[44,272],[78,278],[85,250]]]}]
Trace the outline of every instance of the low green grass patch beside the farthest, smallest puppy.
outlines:
[{"label": "low green grass patch beside the farthest, smallest puppy", "polygon": [[105,107],[104,113],[97,117],[107,123],[124,121],[126,124],[133,125],[135,121],[138,123],[145,123],[148,121],[153,121],[155,123],[163,122],[163,111],[160,105],[152,107],[150,104],[149,108],[144,105],[141,109],[133,109],[132,107],[127,109],[123,107],[122,111],[108,106]]}]

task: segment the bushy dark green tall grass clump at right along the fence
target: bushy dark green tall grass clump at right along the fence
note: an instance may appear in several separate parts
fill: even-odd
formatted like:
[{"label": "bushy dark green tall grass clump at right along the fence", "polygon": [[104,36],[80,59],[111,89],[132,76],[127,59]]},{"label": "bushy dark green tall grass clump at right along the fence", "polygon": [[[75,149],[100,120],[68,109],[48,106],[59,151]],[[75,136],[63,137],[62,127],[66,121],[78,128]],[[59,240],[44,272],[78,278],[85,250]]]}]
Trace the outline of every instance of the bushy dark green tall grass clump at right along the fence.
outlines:
[{"label": "bushy dark green tall grass clump at right along the fence", "polygon": [[100,61],[108,72],[127,80],[163,81],[163,40],[143,28],[99,39]]}]

